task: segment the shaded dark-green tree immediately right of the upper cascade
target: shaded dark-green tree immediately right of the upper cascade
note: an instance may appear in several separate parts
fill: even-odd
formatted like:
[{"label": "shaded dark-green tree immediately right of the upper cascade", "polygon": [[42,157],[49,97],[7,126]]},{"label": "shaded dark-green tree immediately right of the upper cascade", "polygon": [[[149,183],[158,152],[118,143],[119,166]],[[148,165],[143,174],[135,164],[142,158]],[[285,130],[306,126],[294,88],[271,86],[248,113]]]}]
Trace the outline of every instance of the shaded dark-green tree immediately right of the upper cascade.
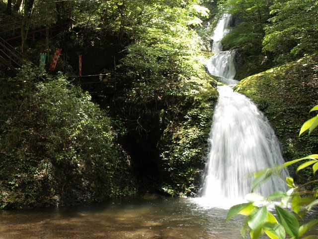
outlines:
[{"label": "shaded dark-green tree immediately right of the upper cascade", "polygon": [[219,8],[233,15],[236,24],[227,34],[222,44],[224,49],[238,49],[242,66],[237,71],[236,78],[242,79],[253,73],[268,68],[262,53],[262,41],[265,35],[264,26],[267,23],[269,7],[272,0],[221,0]]}]

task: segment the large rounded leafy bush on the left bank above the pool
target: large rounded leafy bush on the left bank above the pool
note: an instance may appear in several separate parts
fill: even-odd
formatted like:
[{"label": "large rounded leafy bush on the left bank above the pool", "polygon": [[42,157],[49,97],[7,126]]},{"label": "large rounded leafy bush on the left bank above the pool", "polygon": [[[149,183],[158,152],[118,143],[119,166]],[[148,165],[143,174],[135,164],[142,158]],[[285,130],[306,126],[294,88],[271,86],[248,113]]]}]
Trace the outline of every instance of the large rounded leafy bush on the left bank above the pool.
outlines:
[{"label": "large rounded leafy bush on the left bank above the pool", "polygon": [[106,113],[65,77],[36,82],[35,76],[24,69],[13,80],[19,107],[14,114],[7,111],[1,126],[1,207],[67,205],[134,193],[128,156]]}]

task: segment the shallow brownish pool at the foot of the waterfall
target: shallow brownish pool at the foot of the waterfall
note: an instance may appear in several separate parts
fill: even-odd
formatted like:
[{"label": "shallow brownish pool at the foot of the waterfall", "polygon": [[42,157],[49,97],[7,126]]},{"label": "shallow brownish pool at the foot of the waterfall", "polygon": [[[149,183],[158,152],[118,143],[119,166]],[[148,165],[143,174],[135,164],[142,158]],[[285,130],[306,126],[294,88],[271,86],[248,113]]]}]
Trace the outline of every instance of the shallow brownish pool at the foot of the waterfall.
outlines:
[{"label": "shallow brownish pool at the foot of the waterfall", "polygon": [[[238,239],[243,218],[191,199],[125,198],[102,204],[0,212],[1,239]],[[318,235],[318,234],[317,234]]]}]

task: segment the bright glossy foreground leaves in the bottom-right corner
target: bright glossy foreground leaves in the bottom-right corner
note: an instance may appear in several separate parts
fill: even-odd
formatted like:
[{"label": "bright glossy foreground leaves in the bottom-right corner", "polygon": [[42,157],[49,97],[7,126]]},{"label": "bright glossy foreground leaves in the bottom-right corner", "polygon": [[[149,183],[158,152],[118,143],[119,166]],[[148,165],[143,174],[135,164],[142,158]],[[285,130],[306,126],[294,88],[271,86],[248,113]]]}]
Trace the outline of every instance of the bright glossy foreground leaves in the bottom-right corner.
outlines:
[{"label": "bright glossy foreground leaves in the bottom-right corner", "polygon": [[[311,111],[316,111],[317,109],[318,106],[314,107]],[[306,129],[302,128],[300,135],[307,129],[311,128],[313,130],[317,127],[315,121],[311,123],[306,122],[305,124]],[[309,161],[299,165],[296,172],[313,165],[313,173],[315,174],[318,169],[318,154],[288,161],[282,165],[282,168],[288,167],[303,160]],[[253,188],[263,183],[268,178],[268,175],[274,171],[277,172],[277,168],[267,169],[256,173],[252,182],[252,185],[254,185]],[[278,172],[278,174],[280,173]],[[306,185],[312,183],[316,182],[308,182]],[[257,239],[264,233],[271,239],[285,239],[286,233],[293,239],[302,238],[302,236],[304,236],[311,227],[318,223],[318,219],[316,219],[311,220],[306,224],[300,225],[299,219],[302,218],[306,212],[311,210],[312,207],[318,205],[318,191],[317,189],[312,191],[306,190],[304,189],[306,185],[295,185],[294,179],[289,176],[286,178],[286,184],[290,187],[290,190],[288,190],[286,193],[274,192],[267,198],[255,193],[247,195],[246,198],[249,202],[233,206],[229,210],[226,220],[228,221],[237,214],[247,216],[246,224],[248,226],[245,229],[250,231],[249,234],[251,239]],[[281,200],[280,206],[277,203],[277,199]],[[259,204],[259,202],[261,202],[263,205],[275,205],[275,212],[278,220],[276,220],[266,206],[254,206],[255,203]],[[242,234],[242,236],[243,235],[244,234]],[[311,236],[307,235],[305,238],[311,238]]]}]

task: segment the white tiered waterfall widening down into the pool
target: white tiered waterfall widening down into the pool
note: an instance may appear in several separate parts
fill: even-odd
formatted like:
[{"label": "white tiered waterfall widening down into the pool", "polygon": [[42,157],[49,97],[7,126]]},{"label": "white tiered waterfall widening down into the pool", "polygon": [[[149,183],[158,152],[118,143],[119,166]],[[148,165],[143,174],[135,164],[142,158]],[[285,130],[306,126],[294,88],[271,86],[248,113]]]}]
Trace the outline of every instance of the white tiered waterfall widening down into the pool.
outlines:
[{"label": "white tiered waterfall widening down into the pool", "polygon": [[[211,75],[230,85],[218,87],[208,139],[210,152],[200,190],[200,198],[208,206],[238,203],[250,193],[254,172],[284,163],[279,141],[267,119],[250,99],[232,89],[238,82],[234,80],[235,52],[222,51],[221,44],[222,37],[230,32],[230,21],[231,15],[225,14],[218,22],[212,48],[216,54],[208,62]],[[268,196],[279,190],[286,190],[285,183],[272,176],[255,191]]]}]

